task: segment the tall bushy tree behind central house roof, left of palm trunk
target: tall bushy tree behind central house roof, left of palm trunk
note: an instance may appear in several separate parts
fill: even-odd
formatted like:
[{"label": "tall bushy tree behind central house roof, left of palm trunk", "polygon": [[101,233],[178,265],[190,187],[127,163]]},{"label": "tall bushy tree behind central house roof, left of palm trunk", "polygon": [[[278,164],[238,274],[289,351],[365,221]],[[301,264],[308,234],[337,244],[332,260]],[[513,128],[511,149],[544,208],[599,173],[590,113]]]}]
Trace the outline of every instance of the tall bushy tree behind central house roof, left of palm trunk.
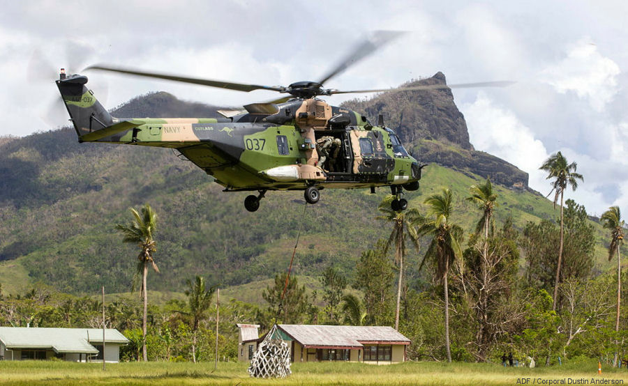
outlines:
[{"label": "tall bushy tree behind central house roof, left of palm trunk", "polygon": [[353,287],[364,293],[364,308],[368,314],[366,325],[391,323],[391,290],[394,280],[393,266],[384,253],[385,242],[378,240],[374,249],[362,252],[356,265]]}]

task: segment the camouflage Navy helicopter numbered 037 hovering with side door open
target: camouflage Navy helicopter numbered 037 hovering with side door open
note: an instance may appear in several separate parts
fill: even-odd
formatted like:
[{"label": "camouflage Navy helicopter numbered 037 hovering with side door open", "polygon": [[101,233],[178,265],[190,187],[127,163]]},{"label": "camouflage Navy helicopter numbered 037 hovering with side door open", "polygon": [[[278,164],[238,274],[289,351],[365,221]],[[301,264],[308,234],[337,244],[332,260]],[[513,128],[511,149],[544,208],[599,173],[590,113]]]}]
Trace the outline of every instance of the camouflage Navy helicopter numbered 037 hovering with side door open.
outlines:
[{"label": "camouflage Navy helicopter numbered 037 hovering with side door open", "polygon": [[[408,154],[393,130],[380,116],[375,126],[349,109],[330,106],[320,96],[342,93],[428,90],[453,87],[504,86],[508,82],[485,82],[396,89],[338,91],[323,84],[382,45],[401,35],[377,31],[357,45],[343,61],[317,82],[289,86],[261,86],[197,79],[146,72],[110,65],[93,65],[86,70],[167,79],[235,91],[269,90],[291,95],[272,102],[245,105],[242,110],[219,110],[223,118],[114,118],[86,86],[84,75],[66,75],[61,69],[56,81],[70,121],[80,142],[103,142],[173,148],[214,176],[224,192],[257,192],[244,200],[255,212],[268,190],[304,190],[308,203],[317,203],[325,188],[357,189],[389,186],[396,198],[391,208],[405,210],[403,190],[419,189],[425,166]],[[336,144],[334,159],[325,157],[317,141]]]}]

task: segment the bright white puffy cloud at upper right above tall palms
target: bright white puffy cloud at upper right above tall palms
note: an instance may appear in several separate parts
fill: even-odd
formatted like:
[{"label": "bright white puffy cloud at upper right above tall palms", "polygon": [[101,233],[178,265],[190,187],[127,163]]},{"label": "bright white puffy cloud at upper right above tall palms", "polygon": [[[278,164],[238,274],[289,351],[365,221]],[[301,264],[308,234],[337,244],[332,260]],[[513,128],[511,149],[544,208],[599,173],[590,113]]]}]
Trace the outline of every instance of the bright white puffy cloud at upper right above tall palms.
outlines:
[{"label": "bright white puffy cloud at upper right above tall palms", "polygon": [[602,56],[590,38],[582,38],[569,47],[565,58],[541,72],[541,81],[558,93],[572,91],[587,99],[596,111],[603,111],[618,93],[615,77],[619,74],[617,63]]}]

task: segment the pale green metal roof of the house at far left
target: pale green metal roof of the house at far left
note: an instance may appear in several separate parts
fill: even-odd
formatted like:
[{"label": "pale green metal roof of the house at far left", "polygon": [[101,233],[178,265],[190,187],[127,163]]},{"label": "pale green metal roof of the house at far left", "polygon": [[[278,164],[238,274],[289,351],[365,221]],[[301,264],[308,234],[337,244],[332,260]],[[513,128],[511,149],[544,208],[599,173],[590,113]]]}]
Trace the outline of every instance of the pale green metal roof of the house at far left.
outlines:
[{"label": "pale green metal roof of the house at far left", "polygon": [[[89,353],[103,343],[103,330],[97,328],[0,327],[0,341],[6,348],[52,348],[57,353]],[[118,330],[105,330],[106,343],[128,343]]]}]

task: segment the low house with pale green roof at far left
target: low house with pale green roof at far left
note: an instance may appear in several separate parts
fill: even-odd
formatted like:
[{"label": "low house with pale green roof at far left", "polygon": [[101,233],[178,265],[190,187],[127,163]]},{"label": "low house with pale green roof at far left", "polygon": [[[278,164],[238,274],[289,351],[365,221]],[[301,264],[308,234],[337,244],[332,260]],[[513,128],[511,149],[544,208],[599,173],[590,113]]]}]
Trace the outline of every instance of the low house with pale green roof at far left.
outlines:
[{"label": "low house with pale green roof at far left", "polygon": [[[105,330],[105,362],[119,362],[128,343],[118,330]],[[103,360],[103,330],[98,328],[0,327],[0,360],[68,362]]]}]

